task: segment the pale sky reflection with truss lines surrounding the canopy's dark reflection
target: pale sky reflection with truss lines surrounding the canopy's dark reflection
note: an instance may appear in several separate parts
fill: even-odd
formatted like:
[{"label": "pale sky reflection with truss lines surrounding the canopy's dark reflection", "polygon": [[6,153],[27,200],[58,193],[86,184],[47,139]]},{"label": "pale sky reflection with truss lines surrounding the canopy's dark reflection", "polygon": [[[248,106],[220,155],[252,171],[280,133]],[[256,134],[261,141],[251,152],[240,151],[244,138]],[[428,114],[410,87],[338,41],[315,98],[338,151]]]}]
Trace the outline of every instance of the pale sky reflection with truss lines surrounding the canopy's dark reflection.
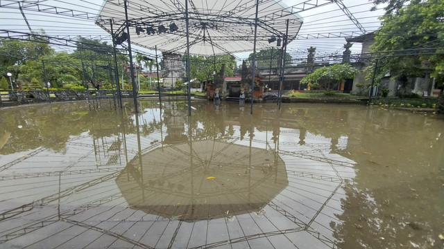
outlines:
[{"label": "pale sky reflection with truss lines surrounding the canopy's dark reflection", "polygon": [[[294,133],[280,136],[294,137]],[[310,139],[316,141],[316,137]],[[122,138],[109,139],[104,143],[106,148],[121,146],[117,144]],[[160,139],[157,133],[140,139],[146,148],[142,152],[162,148],[161,142],[153,142]],[[246,248],[304,248],[299,244],[303,241],[305,248],[335,248],[329,222],[339,222],[334,214],[342,212],[343,179],[353,176],[354,163],[328,154],[330,148],[323,146],[325,138],[304,148],[296,142],[279,141],[273,148],[273,143],[251,139],[254,147],[278,151],[286,163],[289,186],[263,210],[194,223],[126,207],[127,200],[114,182],[123,169],[123,155],[119,154],[116,165],[96,165],[92,140],[90,136],[69,140],[65,156],[36,149],[0,166],[1,196],[6,196],[2,203],[7,204],[0,211],[0,247],[32,243],[45,248],[217,248],[230,244]],[[232,137],[228,142],[240,141]],[[135,138],[126,138],[126,152],[129,158],[137,155]],[[28,167],[42,163],[42,158],[50,158],[56,169]],[[8,185],[22,186],[22,190],[16,190],[12,198],[5,190]],[[15,199],[25,204],[17,205]],[[92,235],[86,235],[87,232]],[[56,239],[58,236],[63,239]],[[27,241],[31,237],[32,241]]]}]

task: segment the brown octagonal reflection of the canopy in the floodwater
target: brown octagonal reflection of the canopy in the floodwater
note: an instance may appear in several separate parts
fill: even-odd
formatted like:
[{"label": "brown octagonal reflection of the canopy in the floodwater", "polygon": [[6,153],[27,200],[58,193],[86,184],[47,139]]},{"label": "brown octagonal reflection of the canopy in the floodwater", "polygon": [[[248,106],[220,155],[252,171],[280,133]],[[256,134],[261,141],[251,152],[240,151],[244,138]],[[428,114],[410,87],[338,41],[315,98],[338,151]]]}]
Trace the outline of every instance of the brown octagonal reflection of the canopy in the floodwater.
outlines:
[{"label": "brown octagonal reflection of the canopy in the floodwater", "polygon": [[259,210],[288,185],[273,151],[212,140],[136,156],[116,181],[131,207],[184,220]]}]

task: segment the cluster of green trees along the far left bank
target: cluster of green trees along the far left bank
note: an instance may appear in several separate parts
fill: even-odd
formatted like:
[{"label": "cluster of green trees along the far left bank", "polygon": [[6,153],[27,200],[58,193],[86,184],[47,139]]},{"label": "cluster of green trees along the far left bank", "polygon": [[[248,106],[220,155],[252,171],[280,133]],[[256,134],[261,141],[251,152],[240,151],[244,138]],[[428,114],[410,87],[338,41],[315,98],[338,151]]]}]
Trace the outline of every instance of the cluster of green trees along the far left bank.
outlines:
[{"label": "cluster of green trees along the far left bank", "polygon": [[[79,39],[83,44],[78,42],[78,48],[71,54],[56,53],[44,43],[1,39],[0,71],[12,73],[12,80],[15,80],[19,89],[28,88],[29,86],[22,86],[22,83],[31,82],[33,78],[42,83],[51,82],[54,88],[63,84],[83,84],[83,82],[86,86],[86,82],[91,80],[109,81],[108,62],[112,46],[98,40],[82,37]],[[128,59],[125,55],[117,55],[117,57],[119,70],[123,69]],[[86,66],[82,66],[82,61],[88,62],[84,63]],[[89,66],[90,64],[94,66]],[[122,73],[122,75],[129,79],[128,73]]]}]

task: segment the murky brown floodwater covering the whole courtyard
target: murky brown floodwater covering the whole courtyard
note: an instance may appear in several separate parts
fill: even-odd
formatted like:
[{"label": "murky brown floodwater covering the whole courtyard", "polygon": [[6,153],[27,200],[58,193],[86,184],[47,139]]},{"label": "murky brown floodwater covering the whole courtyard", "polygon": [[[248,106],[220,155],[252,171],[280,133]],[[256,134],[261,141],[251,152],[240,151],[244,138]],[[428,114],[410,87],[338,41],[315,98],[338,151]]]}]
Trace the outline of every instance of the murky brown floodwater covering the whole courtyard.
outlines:
[{"label": "murky brown floodwater covering the whole courtyard", "polygon": [[192,107],[0,109],[0,248],[443,248],[443,116]]}]

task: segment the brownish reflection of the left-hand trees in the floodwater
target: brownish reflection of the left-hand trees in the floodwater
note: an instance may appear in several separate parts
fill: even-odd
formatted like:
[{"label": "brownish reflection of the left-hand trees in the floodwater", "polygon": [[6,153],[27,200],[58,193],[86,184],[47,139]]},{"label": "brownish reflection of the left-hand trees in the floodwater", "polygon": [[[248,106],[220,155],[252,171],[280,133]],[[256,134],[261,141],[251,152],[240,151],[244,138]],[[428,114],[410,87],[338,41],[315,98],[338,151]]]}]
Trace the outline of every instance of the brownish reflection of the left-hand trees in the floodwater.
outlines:
[{"label": "brownish reflection of the left-hand trees in the floodwater", "polygon": [[[89,111],[86,103],[62,103],[59,105],[35,105],[2,110],[0,127],[9,131],[10,138],[1,149],[2,154],[28,151],[46,147],[64,153],[71,136],[88,132],[94,138],[113,136],[119,133],[117,124],[135,132],[130,118],[120,118],[115,110]],[[18,126],[22,125],[19,129]]]}]

